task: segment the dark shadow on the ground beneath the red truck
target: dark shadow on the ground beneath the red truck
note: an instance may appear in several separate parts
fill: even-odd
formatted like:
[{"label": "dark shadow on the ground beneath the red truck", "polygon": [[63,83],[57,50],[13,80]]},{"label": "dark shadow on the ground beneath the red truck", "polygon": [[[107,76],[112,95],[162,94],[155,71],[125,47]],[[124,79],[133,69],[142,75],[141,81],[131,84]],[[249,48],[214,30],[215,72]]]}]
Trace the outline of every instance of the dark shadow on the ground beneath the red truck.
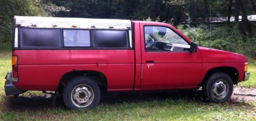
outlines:
[{"label": "dark shadow on the ground beneath the red truck", "polygon": [[[141,103],[163,100],[187,100],[189,102],[208,103],[202,96],[202,90],[182,90],[171,92],[145,92],[145,93],[111,93],[102,98],[99,104],[115,105],[120,103]],[[6,111],[36,111],[42,109],[60,108],[67,109],[62,101],[62,97],[58,96],[55,106],[52,106],[53,98],[44,95],[25,96],[20,95],[17,98],[8,97],[4,104]],[[249,104],[248,104],[249,105]]]}]

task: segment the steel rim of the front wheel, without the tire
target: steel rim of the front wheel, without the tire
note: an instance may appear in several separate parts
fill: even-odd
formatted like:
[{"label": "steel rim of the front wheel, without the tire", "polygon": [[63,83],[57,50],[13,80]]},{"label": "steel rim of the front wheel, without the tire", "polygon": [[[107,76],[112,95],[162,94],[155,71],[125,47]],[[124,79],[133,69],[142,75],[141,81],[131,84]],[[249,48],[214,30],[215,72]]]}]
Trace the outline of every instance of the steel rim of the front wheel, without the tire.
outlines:
[{"label": "steel rim of the front wheel, without the tire", "polygon": [[217,80],[212,86],[212,95],[215,99],[222,100],[228,94],[228,83],[226,80]]}]

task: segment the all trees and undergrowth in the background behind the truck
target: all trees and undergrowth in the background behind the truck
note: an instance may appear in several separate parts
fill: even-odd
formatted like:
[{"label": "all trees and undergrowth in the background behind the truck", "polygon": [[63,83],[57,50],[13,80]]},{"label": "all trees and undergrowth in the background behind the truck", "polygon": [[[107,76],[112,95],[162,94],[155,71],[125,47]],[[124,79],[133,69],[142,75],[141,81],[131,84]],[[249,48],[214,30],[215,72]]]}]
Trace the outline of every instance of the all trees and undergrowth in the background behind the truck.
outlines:
[{"label": "all trees and undergrowth in the background behind the truck", "polygon": [[[119,18],[167,22],[201,46],[256,58],[256,21],[247,19],[255,0],[5,0],[0,10],[1,45],[11,42],[14,15]],[[220,16],[227,20],[210,24]]]}]

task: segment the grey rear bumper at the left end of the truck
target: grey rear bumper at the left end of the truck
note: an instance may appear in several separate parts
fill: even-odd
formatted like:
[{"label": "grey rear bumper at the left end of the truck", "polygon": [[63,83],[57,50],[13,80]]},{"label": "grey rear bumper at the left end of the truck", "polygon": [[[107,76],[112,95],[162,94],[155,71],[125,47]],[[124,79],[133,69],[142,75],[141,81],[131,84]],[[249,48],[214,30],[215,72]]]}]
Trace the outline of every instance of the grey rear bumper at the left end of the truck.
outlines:
[{"label": "grey rear bumper at the left end of the truck", "polygon": [[9,71],[5,77],[5,94],[8,95],[15,95],[15,94],[21,94],[22,91],[20,91],[15,85],[13,85],[12,81],[12,72]]}]

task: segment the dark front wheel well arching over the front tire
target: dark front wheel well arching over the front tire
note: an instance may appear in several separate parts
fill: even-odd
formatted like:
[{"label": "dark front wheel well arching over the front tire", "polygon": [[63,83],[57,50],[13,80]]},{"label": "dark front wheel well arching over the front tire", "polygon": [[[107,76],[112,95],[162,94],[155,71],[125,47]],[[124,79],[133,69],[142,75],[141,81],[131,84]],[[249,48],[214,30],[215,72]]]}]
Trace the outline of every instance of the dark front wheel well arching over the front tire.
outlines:
[{"label": "dark front wheel well arching over the front tire", "polygon": [[200,84],[200,86],[203,85],[203,83],[208,79],[208,77],[212,74],[214,74],[215,72],[224,72],[225,74],[227,74],[233,81],[233,84],[238,84],[238,70],[234,67],[215,67],[215,68],[211,68],[210,70],[208,70],[208,72],[206,73],[202,83]]}]

